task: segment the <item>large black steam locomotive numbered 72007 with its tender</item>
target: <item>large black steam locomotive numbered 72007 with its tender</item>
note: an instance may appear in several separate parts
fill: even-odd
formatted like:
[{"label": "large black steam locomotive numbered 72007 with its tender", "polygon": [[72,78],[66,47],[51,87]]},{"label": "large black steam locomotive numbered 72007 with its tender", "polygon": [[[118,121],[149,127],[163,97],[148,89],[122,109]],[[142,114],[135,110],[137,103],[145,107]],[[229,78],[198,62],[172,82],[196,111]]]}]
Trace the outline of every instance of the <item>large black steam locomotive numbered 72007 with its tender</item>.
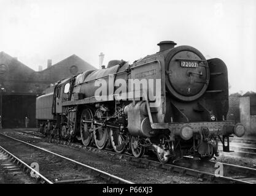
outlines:
[{"label": "large black steam locomotive numbered 72007 with its tender", "polygon": [[227,121],[225,63],[173,41],[158,45],[133,64],[113,60],[47,88],[36,99],[41,132],[135,157],[153,152],[163,163],[219,156],[218,141],[229,152],[231,134],[246,130]]}]

